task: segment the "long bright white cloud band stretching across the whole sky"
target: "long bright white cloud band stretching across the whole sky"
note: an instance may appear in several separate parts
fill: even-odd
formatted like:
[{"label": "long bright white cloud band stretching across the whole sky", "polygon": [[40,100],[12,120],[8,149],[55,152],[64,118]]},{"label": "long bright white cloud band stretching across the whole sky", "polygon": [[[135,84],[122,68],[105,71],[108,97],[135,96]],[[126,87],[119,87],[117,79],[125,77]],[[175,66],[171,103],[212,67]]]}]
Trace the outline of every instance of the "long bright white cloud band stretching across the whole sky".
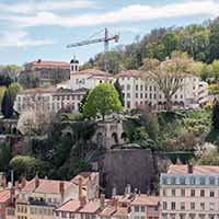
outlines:
[{"label": "long bright white cloud band stretching across the whole sky", "polygon": [[139,22],[155,19],[180,18],[198,14],[216,16],[219,13],[219,3],[214,0],[185,1],[166,5],[151,7],[147,4],[131,4],[117,11],[105,13],[60,15],[54,12],[38,12],[35,15],[0,15],[0,20],[7,20],[20,26],[92,26],[113,24],[119,22]]}]

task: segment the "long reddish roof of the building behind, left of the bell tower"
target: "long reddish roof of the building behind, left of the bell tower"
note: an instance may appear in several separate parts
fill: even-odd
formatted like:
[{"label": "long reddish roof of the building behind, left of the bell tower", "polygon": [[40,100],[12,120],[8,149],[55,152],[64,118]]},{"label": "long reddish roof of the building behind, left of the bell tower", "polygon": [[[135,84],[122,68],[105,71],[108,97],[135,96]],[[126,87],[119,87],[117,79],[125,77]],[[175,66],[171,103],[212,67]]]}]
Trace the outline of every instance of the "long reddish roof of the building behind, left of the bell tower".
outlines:
[{"label": "long reddish roof of the building behind, left of the bell tower", "polygon": [[41,61],[32,61],[30,62],[33,67],[37,68],[65,68],[69,69],[70,64],[65,61],[48,61],[48,60],[41,60]]}]

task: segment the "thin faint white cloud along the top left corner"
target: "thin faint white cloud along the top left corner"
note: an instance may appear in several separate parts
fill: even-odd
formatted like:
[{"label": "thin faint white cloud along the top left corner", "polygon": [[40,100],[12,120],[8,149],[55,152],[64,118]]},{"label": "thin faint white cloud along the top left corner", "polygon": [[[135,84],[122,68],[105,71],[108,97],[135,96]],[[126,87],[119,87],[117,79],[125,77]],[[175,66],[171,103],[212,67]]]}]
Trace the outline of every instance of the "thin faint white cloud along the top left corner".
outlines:
[{"label": "thin faint white cloud along the top left corner", "polygon": [[0,3],[1,13],[30,14],[42,11],[59,11],[70,9],[87,9],[96,7],[90,0],[46,0],[46,1],[20,1],[18,3]]}]

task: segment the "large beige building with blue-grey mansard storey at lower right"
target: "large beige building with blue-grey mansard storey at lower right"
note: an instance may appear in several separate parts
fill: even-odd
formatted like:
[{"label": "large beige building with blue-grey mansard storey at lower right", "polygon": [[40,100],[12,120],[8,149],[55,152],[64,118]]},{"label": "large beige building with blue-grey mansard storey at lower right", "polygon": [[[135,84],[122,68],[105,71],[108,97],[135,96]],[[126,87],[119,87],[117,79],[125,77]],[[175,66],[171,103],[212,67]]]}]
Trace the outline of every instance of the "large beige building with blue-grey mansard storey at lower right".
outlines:
[{"label": "large beige building with blue-grey mansard storey at lower right", "polygon": [[162,219],[218,219],[219,166],[170,165],[160,177]]}]

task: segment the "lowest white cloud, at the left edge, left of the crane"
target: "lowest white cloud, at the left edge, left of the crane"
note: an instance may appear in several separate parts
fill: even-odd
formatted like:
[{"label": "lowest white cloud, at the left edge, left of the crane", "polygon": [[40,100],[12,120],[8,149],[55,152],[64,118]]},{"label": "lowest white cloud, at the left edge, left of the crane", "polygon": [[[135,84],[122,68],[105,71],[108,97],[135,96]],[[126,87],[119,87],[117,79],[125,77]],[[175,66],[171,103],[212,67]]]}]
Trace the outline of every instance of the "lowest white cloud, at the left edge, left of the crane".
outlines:
[{"label": "lowest white cloud, at the left edge, left of the crane", "polygon": [[7,31],[0,33],[0,47],[26,47],[53,44],[49,39],[33,39],[24,31]]}]

